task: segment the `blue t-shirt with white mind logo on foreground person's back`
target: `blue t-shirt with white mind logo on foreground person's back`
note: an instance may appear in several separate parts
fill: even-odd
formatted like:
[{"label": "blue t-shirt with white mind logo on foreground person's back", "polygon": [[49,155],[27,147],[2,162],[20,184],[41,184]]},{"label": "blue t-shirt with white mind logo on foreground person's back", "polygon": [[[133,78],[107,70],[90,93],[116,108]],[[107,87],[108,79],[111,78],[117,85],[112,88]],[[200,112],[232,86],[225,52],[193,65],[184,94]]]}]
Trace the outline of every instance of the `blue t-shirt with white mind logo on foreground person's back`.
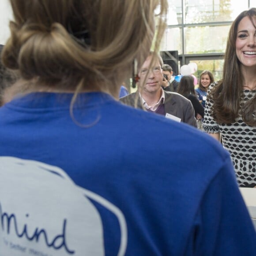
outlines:
[{"label": "blue t-shirt with white mind logo on foreground person's back", "polygon": [[255,255],[217,141],[108,94],[71,100],[32,93],[0,108],[1,256]]}]

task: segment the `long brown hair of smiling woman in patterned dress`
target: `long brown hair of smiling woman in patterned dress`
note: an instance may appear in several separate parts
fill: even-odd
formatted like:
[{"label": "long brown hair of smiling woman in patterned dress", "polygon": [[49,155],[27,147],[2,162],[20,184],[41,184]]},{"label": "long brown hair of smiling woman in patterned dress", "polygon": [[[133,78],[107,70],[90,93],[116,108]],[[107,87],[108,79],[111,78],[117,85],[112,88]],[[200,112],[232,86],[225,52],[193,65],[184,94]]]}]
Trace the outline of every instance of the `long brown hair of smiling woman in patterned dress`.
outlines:
[{"label": "long brown hair of smiling woman in patterned dress", "polygon": [[[240,61],[236,55],[236,38],[238,24],[244,17],[249,17],[256,27],[256,24],[253,23],[253,17],[256,17],[256,8],[241,12],[234,20],[227,39],[222,80],[209,94],[209,99],[213,101],[212,116],[218,123],[233,123],[238,117],[240,109],[244,79]],[[241,115],[246,124],[256,126],[256,96],[241,107]]]}]

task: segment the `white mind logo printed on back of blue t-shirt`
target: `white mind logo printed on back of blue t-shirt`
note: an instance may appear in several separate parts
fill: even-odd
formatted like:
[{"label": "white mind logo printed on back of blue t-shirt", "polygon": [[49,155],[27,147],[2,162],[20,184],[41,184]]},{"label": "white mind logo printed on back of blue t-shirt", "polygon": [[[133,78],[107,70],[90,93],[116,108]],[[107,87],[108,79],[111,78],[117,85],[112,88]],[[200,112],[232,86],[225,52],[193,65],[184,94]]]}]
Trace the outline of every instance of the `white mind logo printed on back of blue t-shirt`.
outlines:
[{"label": "white mind logo printed on back of blue t-shirt", "polygon": [[117,217],[117,255],[124,255],[127,226],[112,203],[78,187],[56,166],[0,157],[0,255],[105,255],[102,219],[89,199]]}]

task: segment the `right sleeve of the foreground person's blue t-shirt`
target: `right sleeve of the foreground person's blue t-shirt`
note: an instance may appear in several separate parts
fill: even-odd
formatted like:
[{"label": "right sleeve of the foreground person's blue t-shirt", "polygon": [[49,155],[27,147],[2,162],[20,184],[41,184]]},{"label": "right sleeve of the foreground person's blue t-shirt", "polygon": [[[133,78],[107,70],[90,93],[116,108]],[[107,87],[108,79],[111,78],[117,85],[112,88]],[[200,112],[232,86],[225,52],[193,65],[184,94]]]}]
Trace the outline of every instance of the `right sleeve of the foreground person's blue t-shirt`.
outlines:
[{"label": "right sleeve of the foreground person's blue t-shirt", "polygon": [[188,250],[202,256],[256,255],[256,232],[229,158],[202,199]]}]

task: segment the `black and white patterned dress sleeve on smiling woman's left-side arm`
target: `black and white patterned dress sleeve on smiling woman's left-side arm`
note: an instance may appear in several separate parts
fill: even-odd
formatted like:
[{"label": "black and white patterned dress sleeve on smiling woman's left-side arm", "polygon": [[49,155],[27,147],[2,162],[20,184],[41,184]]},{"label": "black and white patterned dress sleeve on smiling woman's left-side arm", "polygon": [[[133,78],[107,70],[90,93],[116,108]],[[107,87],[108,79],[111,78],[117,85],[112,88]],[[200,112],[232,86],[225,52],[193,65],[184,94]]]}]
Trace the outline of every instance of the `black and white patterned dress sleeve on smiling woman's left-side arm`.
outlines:
[{"label": "black and white patterned dress sleeve on smiling woman's left-side arm", "polygon": [[[209,92],[212,90],[213,87],[216,86],[216,84],[217,82],[212,83],[209,86],[207,95],[209,95]],[[212,106],[213,106],[213,100],[209,99],[209,97],[207,96],[205,109],[204,109],[203,131],[207,133],[218,133],[219,125],[211,115]]]}]

